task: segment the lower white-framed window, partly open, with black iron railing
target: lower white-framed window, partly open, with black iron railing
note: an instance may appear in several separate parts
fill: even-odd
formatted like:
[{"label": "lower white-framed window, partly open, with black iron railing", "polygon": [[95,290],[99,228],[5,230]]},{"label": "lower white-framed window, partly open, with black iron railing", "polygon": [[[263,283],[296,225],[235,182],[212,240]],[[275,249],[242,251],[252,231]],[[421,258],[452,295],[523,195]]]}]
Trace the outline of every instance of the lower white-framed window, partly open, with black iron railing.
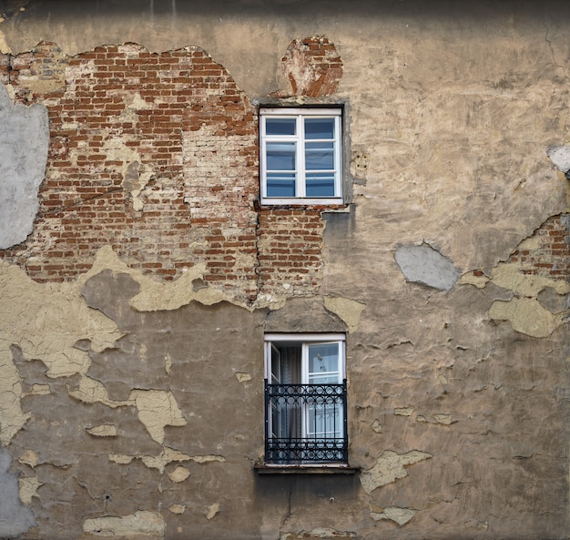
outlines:
[{"label": "lower white-framed window, partly open, with black iron railing", "polygon": [[265,463],[347,464],[344,334],[266,334]]}]

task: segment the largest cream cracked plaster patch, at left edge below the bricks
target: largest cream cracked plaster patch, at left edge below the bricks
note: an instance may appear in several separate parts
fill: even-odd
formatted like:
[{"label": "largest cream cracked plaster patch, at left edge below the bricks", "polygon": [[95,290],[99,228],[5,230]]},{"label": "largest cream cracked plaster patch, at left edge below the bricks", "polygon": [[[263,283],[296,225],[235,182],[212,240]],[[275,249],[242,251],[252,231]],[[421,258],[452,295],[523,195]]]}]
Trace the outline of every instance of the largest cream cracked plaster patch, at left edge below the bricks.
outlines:
[{"label": "largest cream cracked plaster patch, at left edge below the bricks", "polygon": [[[48,377],[83,376],[90,359],[76,342],[87,340],[100,352],[123,334],[115,321],[87,307],[76,284],[41,285],[0,261],[0,289],[0,443],[6,445],[29,417],[20,407],[22,385],[12,345],[25,359],[43,362]],[[36,386],[32,393],[46,394],[49,388]]]}]

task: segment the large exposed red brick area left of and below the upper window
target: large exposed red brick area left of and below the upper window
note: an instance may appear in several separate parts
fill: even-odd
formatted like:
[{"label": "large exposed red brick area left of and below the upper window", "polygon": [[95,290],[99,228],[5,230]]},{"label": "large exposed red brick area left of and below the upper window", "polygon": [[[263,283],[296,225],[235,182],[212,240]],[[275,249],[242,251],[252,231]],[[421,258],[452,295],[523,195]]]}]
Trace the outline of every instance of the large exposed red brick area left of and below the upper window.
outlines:
[{"label": "large exposed red brick area left of and below the upper window", "polygon": [[49,113],[34,232],[0,251],[33,280],[74,280],[111,245],[161,280],[203,262],[204,279],[241,301],[319,287],[321,209],[259,209],[257,110],[200,48],[70,57],[42,42],[0,56],[0,80]]}]

